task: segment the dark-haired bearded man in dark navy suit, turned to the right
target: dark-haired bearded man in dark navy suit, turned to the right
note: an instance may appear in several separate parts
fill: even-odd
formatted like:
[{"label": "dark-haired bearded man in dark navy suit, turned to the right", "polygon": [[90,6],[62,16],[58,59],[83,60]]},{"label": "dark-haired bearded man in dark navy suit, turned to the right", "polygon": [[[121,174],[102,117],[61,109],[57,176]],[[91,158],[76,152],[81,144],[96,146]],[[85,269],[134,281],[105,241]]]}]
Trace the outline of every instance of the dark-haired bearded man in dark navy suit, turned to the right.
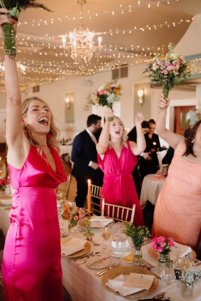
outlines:
[{"label": "dark-haired bearded man in dark navy suit, turned to the right", "polygon": [[91,114],[87,118],[87,127],[73,140],[71,160],[74,162],[72,175],[77,181],[77,207],[83,207],[88,189],[88,179],[91,184],[103,186],[103,172],[97,164],[97,140],[94,133],[101,127],[101,117]]}]

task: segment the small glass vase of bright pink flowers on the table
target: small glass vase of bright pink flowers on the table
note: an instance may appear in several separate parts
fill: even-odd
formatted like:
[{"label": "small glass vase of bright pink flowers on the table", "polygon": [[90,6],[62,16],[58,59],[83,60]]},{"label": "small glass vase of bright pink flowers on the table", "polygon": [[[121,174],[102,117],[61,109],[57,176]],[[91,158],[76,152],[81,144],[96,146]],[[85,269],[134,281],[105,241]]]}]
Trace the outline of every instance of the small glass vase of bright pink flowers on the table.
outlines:
[{"label": "small glass vase of bright pink flowers on the table", "polygon": [[158,271],[169,268],[171,247],[174,246],[174,240],[171,237],[159,236],[152,239],[151,248],[158,252]]}]

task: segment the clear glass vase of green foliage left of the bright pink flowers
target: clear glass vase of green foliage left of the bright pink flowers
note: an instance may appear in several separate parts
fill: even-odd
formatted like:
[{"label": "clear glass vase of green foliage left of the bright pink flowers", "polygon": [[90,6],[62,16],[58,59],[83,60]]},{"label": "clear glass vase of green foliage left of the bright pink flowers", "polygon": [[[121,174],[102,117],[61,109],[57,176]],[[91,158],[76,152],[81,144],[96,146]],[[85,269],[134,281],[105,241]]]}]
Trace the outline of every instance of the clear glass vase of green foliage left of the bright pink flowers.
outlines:
[{"label": "clear glass vase of green foliage left of the bright pink flowers", "polygon": [[142,250],[141,246],[144,243],[145,237],[150,237],[150,232],[146,226],[135,227],[133,224],[124,223],[125,230],[122,232],[127,236],[131,237],[133,245],[135,247],[134,251],[134,261],[136,261],[139,266],[142,265]]}]

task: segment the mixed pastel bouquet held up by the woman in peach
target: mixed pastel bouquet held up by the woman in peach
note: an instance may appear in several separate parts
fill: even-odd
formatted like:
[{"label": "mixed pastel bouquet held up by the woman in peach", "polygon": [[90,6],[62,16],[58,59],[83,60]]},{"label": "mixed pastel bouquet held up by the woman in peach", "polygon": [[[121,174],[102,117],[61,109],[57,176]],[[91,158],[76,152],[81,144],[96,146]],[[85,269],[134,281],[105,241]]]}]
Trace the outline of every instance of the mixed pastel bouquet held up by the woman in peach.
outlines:
[{"label": "mixed pastel bouquet held up by the woman in peach", "polygon": [[172,87],[179,85],[181,81],[190,76],[188,63],[179,53],[173,52],[172,43],[169,43],[169,51],[166,54],[155,54],[154,61],[149,63],[143,72],[149,73],[153,82],[160,83],[163,87],[164,97],[168,97]]}]

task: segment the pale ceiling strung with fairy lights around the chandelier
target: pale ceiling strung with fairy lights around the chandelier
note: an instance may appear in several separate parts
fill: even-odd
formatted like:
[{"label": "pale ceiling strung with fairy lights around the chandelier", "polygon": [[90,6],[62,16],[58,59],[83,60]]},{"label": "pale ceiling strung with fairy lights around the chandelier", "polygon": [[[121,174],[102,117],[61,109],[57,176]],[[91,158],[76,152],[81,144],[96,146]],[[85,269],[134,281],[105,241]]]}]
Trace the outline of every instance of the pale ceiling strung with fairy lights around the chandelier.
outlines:
[{"label": "pale ceiling strung with fairy lights around the chandelier", "polygon": [[[83,24],[90,31],[102,33],[103,49],[98,61],[93,56],[90,64],[81,68],[70,55],[64,55],[60,37],[80,23],[77,0],[39,2],[53,12],[27,9],[18,22],[17,60],[28,66],[26,75],[21,76],[22,88],[91,75],[122,64],[144,63],[155,52],[166,52],[169,42],[176,45],[193,16],[201,14],[200,0],[87,0]],[[3,61],[1,47],[0,63]],[[0,79],[4,85],[3,75]]]}]

